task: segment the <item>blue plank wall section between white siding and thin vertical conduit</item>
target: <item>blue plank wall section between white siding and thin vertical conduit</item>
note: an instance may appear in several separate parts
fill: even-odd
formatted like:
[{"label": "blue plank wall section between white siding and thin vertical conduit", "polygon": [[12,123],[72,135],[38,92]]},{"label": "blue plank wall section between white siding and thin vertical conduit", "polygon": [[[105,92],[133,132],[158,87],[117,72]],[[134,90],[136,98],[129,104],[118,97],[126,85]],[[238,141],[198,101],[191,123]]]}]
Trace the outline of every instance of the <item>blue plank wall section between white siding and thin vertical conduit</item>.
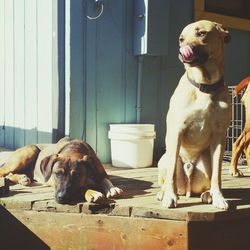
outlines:
[{"label": "blue plank wall section between white siding and thin vertical conduit", "polygon": [[70,135],[85,139],[108,162],[109,124],[136,121],[133,1],[105,1],[103,15],[88,20],[92,7],[91,1],[71,4]]}]

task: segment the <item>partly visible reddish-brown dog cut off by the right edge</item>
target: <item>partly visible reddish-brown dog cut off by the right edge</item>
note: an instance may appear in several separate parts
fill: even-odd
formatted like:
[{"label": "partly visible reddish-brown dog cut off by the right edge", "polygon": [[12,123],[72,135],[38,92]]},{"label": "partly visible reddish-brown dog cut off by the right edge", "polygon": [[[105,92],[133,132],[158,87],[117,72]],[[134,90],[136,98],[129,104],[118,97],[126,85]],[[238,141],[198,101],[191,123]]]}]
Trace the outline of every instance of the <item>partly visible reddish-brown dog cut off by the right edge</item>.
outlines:
[{"label": "partly visible reddish-brown dog cut off by the right edge", "polygon": [[246,123],[245,127],[233,144],[232,160],[231,160],[231,174],[233,176],[243,176],[243,173],[237,168],[237,163],[240,155],[244,152],[247,159],[247,166],[250,167],[250,76],[242,80],[234,89],[234,95],[238,95],[243,89],[246,89],[241,98],[241,102],[245,106]]}]

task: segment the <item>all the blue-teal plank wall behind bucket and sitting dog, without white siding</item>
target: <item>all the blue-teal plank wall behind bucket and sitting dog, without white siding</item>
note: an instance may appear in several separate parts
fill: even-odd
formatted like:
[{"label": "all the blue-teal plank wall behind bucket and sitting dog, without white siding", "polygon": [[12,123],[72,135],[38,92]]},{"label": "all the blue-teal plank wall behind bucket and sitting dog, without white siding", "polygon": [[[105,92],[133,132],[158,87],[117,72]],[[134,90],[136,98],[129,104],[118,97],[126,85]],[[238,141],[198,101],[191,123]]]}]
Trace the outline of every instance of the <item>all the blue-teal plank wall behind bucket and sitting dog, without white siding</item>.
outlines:
[{"label": "all the blue-teal plank wall behind bucket and sitting dog, without white siding", "polygon": [[[166,0],[168,1],[168,0]],[[156,124],[156,158],[164,150],[169,99],[184,72],[178,60],[179,33],[193,22],[193,0],[169,0],[167,56],[143,56],[141,123]],[[133,1],[104,0],[103,15],[92,1],[72,0],[70,59],[70,135],[86,139],[103,162],[110,161],[108,125],[137,121],[138,57],[133,55]],[[169,13],[169,14],[167,14]],[[226,45],[225,79],[234,85],[249,74],[250,34],[232,30]]]}]

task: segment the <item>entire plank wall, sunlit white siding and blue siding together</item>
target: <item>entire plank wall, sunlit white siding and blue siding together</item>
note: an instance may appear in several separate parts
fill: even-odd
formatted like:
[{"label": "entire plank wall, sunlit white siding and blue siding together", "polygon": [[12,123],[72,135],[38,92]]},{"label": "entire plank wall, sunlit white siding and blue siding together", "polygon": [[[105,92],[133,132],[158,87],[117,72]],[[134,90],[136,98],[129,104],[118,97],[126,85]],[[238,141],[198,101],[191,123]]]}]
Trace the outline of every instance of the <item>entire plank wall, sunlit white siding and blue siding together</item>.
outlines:
[{"label": "entire plank wall, sunlit white siding and blue siding together", "polygon": [[[92,0],[65,0],[70,7],[66,123],[69,134],[86,139],[104,162],[110,161],[110,123],[154,123],[156,158],[164,150],[165,116],[183,66],[178,36],[193,21],[193,0],[166,0],[167,56],[133,55],[133,0],[103,0],[97,20]],[[57,5],[62,8],[57,9]],[[63,49],[57,50],[57,10],[64,0],[0,0],[0,145],[16,148],[52,142],[64,128]],[[63,21],[59,23],[63,28]],[[67,24],[68,25],[68,24]],[[230,29],[225,79],[236,84],[249,74],[249,32]],[[61,43],[62,45],[63,43]],[[60,47],[60,45],[59,45]],[[57,60],[59,61],[58,76]],[[139,68],[141,89],[138,91]],[[58,77],[61,79],[58,82]],[[139,102],[140,100],[140,102]]]}]

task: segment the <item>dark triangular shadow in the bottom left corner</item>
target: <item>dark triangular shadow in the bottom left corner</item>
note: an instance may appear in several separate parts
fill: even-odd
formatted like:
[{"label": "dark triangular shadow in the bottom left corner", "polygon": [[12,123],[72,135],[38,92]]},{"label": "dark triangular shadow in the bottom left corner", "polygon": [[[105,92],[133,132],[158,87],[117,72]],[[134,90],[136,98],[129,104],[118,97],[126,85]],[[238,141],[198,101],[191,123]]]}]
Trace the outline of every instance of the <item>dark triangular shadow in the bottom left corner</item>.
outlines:
[{"label": "dark triangular shadow in the bottom left corner", "polygon": [[0,206],[1,249],[26,250],[50,249],[38,236],[30,231],[3,206]]}]

